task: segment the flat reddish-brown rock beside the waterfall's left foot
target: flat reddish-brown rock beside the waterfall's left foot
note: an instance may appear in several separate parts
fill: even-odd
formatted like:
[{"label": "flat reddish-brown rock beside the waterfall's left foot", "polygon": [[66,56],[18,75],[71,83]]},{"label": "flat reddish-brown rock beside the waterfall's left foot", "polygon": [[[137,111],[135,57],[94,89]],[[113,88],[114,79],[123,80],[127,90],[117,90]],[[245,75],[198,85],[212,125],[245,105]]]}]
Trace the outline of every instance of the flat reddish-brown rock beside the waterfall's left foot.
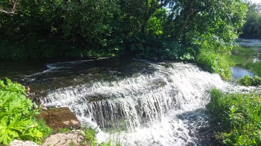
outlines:
[{"label": "flat reddish-brown rock beside the waterfall's left foot", "polygon": [[53,129],[79,129],[81,124],[68,107],[41,111],[38,118],[43,118],[46,124]]}]

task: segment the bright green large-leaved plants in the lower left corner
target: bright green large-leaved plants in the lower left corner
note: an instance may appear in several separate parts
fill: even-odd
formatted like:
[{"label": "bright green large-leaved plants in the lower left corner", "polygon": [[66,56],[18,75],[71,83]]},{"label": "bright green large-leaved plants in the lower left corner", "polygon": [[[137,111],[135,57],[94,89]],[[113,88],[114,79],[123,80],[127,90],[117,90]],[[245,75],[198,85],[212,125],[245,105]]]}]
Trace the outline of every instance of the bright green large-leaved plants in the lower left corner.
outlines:
[{"label": "bright green large-leaved plants in the lower left corner", "polygon": [[0,80],[0,143],[8,144],[15,138],[40,143],[41,127],[35,121],[38,109],[25,97],[25,88],[9,79]]}]

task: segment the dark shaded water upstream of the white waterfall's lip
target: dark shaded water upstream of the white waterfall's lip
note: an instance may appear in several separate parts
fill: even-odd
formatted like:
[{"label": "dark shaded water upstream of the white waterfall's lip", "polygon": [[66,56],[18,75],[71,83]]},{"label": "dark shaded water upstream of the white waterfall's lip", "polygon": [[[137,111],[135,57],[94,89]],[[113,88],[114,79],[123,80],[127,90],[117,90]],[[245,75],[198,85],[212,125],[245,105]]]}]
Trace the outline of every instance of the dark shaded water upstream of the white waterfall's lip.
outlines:
[{"label": "dark shaded water upstream of the white waterfall's lip", "polygon": [[[59,61],[59,60],[58,60]],[[103,58],[93,60],[24,60],[0,63],[0,78],[30,87],[30,92],[46,92],[80,86],[97,81],[116,81],[128,77],[152,74],[149,63],[134,59]]]}]

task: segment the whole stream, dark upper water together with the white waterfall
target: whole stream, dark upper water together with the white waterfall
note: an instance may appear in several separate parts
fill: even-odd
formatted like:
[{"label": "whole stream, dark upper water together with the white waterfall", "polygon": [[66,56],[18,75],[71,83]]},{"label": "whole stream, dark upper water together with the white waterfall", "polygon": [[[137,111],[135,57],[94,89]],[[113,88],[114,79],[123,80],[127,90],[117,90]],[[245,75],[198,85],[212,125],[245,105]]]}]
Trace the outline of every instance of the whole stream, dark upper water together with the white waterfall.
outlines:
[{"label": "whole stream, dark upper water together with the white waterfall", "polygon": [[0,77],[47,107],[69,107],[99,142],[121,145],[214,145],[206,91],[248,90],[191,63],[119,58],[3,61]]}]

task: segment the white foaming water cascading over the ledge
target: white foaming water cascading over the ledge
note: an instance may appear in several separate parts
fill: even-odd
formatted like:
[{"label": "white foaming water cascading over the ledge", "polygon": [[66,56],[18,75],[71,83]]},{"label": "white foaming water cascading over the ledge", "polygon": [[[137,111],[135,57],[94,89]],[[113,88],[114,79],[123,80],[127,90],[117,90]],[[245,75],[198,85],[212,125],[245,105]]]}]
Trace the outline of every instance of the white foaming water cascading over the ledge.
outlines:
[{"label": "white foaming water cascading over the ledge", "polygon": [[[198,137],[209,121],[205,92],[212,86],[222,89],[229,84],[193,64],[133,61],[145,63],[150,71],[145,74],[143,68],[124,78],[112,75],[109,80],[101,78],[59,88],[41,100],[45,106],[69,107],[83,124],[99,127],[98,141],[112,140],[121,145],[204,145]],[[82,62],[68,63],[75,67]],[[50,64],[53,69],[41,74],[73,68],[64,64]],[[119,70],[124,69],[109,72],[118,74]],[[84,78],[89,75],[92,76],[86,74]]]}]

